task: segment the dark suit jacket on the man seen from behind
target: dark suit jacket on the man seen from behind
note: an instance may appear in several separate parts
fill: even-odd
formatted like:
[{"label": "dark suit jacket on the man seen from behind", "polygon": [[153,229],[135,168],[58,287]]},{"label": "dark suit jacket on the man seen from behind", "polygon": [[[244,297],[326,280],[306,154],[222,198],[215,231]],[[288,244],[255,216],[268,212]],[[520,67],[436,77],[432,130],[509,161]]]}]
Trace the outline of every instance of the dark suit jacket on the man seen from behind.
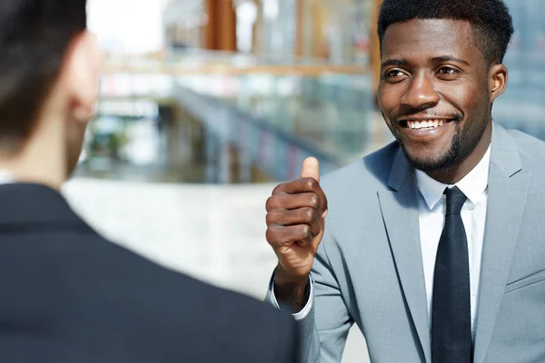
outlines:
[{"label": "dark suit jacket on the man seen from behind", "polygon": [[0,362],[293,362],[295,329],[104,240],[57,191],[0,185]]}]

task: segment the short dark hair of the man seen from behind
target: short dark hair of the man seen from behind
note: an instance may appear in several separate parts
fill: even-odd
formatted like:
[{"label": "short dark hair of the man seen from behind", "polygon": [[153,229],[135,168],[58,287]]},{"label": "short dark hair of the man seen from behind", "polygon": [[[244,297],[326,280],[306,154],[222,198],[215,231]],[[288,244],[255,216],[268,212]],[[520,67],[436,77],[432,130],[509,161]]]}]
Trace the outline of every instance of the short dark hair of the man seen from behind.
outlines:
[{"label": "short dark hair of the man seen from behind", "polygon": [[0,5],[0,145],[33,130],[74,36],[86,29],[86,0],[3,0]]}]

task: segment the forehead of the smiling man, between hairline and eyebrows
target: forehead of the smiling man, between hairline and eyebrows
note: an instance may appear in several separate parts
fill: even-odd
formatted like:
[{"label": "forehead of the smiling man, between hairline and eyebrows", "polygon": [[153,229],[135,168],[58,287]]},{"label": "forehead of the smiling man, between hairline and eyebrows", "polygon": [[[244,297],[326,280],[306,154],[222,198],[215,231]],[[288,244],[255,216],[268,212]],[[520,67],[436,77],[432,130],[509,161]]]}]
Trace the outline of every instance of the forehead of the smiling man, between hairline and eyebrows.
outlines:
[{"label": "forehead of the smiling man, between hairline and eyebrows", "polygon": [[[390,25],[382,38],[382,60],[449,54],[472,58],[477,52],[471,24],[463,20],[412,19]],[[468,59],[469,60],[469,59]]]}]

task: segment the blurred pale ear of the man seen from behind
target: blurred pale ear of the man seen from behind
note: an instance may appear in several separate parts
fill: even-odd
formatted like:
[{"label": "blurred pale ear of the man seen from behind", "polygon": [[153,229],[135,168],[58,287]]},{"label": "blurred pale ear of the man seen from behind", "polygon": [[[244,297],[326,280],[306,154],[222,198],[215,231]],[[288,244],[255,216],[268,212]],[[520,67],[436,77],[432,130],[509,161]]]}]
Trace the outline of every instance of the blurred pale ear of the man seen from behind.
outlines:
[{"label": "blurred pale ear of the man seen from behind", "polygon": [[94,34],[84,31],[74,37],[64,60],[64,85],[70,112],[78,122],[87,123],[98,100],[101,55]]}]

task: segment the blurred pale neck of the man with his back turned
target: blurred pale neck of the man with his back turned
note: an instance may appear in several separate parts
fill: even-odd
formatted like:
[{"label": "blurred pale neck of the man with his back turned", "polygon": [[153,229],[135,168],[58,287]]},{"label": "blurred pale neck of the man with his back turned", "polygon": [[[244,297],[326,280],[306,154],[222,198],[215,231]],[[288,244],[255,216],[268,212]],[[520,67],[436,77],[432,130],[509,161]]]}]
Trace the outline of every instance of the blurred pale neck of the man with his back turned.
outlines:
[{"label": "blurred pale neck of the man with his back turned", "polygon": [[16,153],[0,152],[0,170],[16,182],[44,184],[60,190],[66,179],[62,123],[42,120]]}]

